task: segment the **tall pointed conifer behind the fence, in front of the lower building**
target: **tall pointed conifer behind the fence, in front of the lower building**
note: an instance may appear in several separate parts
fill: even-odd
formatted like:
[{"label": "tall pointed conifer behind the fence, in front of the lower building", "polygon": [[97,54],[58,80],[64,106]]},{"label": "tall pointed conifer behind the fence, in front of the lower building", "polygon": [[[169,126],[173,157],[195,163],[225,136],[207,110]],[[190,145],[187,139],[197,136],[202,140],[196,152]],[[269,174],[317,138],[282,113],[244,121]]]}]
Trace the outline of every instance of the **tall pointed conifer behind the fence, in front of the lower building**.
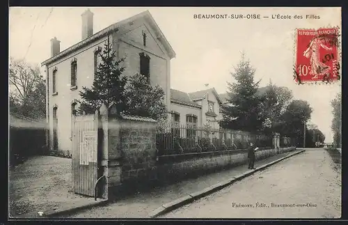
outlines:
[{"label": "tall pointed conifer behind the fence, in front of the lower building", "polygon": [[231,72],[235,83],[228,82],[228,103],[223,106],[221,125],[233,130],[257,131],[262,127],[259,82],[254,82],[255,69],[250,61],[242,59]]}]

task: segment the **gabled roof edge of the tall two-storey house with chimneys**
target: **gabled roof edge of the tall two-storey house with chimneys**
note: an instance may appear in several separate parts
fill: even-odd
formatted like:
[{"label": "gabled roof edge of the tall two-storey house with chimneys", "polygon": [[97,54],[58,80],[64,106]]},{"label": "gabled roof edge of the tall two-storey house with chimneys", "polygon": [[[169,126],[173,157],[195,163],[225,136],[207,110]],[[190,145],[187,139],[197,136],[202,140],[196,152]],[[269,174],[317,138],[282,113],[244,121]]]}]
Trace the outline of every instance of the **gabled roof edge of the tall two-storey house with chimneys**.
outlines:
[{"label": "gabled roof edge of the tall two-storey house with chimneys", "polygon": [[158,24],[155,22],[154,18],[150,14],[149,10],[144,11],[143,13],[136,14],[132,17],[129,17],[125,20],[121,20],[120,22],[116,22],[115,24],[112,24],[105,29],[102,29],[102,31],[99,31],[92,36],[89,36],[88,38],[81,40],[80,42],[77,42],[77,44],[72,45],[71,47],[68,47],[68,49],[63,50],[62,52],[56,54],[56,56],[53,56],[46,61],[41,63],[41,66],[52,63],[58,59],[61,59],[63,56],[66,56],[67,54],[70,54],[74,51],[77,51],[77,49],[80,49],[81,47],[84,47],[88,45],[90,42],[93,42],[95,40],[98,40],[104,36],[109,35],[109,33],[116,32],[120,28],[120,26],[124,26],[128,22],[134,21],[134,20],[139,20],[141,18],[144,18],[146,21],[149,22],[150,26],[152,29],[155,30],[157,39],[164,45],[166,48],[166,51],[168,52],[168,55],[170,56],[171,59],[175,58],[175,52],[171,45],[169,44],[168,40],[162,33],[161,29],[159,29]]}]

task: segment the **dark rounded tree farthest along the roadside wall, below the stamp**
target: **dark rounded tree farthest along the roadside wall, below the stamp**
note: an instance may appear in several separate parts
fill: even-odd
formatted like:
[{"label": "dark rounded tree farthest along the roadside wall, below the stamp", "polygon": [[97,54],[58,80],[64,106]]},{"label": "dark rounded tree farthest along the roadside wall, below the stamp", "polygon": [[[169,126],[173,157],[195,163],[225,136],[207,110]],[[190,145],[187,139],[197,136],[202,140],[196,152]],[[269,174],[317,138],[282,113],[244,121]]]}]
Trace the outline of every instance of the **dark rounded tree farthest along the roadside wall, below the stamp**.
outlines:
[{"label": "dark rounded tree farthest along the roadside wall, below the stamp", "polygon": [[293,100],[281,117],[280,132],[288,137],[303,139],[303,124],[309,121],[313,109],[307,101]]}]

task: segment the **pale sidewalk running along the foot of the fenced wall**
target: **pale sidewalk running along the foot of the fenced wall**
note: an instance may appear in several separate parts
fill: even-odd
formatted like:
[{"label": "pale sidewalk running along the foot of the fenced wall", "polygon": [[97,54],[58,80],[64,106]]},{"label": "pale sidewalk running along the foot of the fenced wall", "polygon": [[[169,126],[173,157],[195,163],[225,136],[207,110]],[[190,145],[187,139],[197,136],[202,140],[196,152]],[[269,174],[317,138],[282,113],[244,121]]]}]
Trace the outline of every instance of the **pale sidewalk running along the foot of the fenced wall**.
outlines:
[{"label": "pale sidewalk running along the foot of the fenced wall", "polygon": [[[255,167],[263,166],[287,155],[298,153],[301,150],[302,149],[296,149],[290,153],[281,153],[260,160],[255,162]],[[289,160],[291,160],[291,158]],[[250,171],[247,165],[237,166],[226,171],[200,176],[196,179],[183,180],[166,187],[157,187],[151,192],[139,193],[125,200],[82,210],[74,215],[62,215],[61,218],[150,218],[149,214],[153,214],[154,210],[157,210],[157,208],[160,208],[166,203],[180,199],[193,192],[200,192],[207,187],[224,182],[247,171]]]}]

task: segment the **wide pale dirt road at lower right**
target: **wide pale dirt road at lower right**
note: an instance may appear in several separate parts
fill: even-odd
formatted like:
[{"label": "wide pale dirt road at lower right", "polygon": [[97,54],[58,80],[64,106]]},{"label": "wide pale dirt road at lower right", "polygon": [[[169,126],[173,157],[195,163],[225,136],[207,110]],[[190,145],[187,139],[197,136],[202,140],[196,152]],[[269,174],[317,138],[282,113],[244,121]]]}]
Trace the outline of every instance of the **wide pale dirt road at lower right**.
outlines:
[{"label": "wide pale dirt road at lower right", "polygon": [[331,155],[308,149],[162,218],[339,218],[341,164]]}]

